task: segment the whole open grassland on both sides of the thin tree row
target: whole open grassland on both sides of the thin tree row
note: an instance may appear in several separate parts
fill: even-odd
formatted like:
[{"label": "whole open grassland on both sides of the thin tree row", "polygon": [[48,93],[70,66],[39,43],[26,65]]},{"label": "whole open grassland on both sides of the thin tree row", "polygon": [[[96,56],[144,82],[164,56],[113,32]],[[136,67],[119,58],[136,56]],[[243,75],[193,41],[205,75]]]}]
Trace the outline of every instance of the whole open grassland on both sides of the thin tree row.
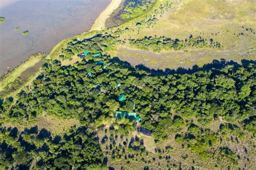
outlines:
[{"label": "whole open grassland on both sides of the thin tree row", "polygon": [[[122,39],[165,36],[184,40],[193,35],[193,37],[212,38],[220,42],[223,47],[203,51],[187,47],[179,51],[171,49],[161,51],[161,54],[139,50],[138,55],[134,55],[135,53],[130,50],[137,49],[125,44],[118,47],[117,56],[134,65],[145,64],[152,69],[167,67],[187,69],[193,65],[202,66],[211,63],[213,59],[221,58],[236,62],[242,59],[255,59],[256,19],[252,17],[256,11],[254,1],[171,1],[170,6],[167,3],[168,1],[164,0],[157,1],[154,9],[163,8],[163,10],[152,9],[149,13],[145,12],[142,16],[121,25],[123,29],[129,28],[129,31],[123,33]],[[152,15],[156,17],[155,21],[150,23]],[[142,23],[139,27],[136,26],[138,22]],[[248,31],[250,29],[252,31]]]}]

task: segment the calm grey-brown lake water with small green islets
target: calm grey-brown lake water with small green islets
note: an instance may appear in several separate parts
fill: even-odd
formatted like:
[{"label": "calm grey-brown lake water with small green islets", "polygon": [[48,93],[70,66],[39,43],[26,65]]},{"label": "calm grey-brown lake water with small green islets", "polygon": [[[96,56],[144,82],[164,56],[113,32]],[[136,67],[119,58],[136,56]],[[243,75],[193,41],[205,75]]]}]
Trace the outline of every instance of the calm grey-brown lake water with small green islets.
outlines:
[{"label": "calm grey-brown lake water with small green islets", "polygon": [[[90,29],[111,0],[0,0],[0,75]],[[19,31],[14,29],[19,27]],[[29,30],[28,35],[22,32]]]}]

